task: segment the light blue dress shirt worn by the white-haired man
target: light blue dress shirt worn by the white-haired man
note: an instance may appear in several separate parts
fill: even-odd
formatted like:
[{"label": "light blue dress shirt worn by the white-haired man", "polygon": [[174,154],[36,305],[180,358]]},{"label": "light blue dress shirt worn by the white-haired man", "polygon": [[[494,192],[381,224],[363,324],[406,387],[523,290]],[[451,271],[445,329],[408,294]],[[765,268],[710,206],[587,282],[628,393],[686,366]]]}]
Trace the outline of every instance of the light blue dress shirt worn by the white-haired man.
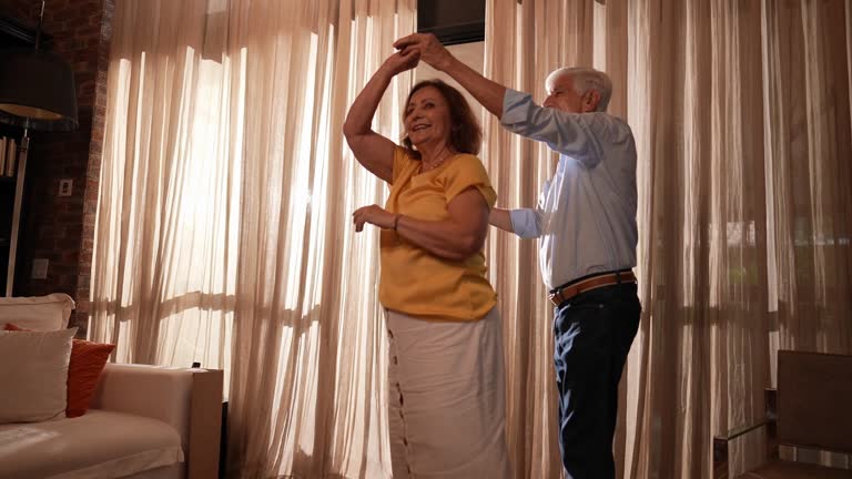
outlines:
[{"label": "light blue dress shirt worn by the white-haired man", "polygon": [[539,238],[548,289],[572,279],[636,266],[636,143],[630,126],[607,113],[542,108],[506,90],[504,128],[559,153],[535,208],[509,212],[520,237]]}]

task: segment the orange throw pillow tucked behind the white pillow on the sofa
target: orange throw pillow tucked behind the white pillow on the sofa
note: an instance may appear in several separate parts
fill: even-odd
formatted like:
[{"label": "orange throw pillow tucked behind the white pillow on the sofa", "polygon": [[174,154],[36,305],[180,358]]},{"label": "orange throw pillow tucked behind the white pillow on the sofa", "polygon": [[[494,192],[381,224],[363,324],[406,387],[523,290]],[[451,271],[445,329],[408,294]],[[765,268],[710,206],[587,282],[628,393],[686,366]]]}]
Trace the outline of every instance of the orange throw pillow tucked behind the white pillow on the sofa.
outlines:
[{"label": "orange throw pillow tucked behind the white pillow on the sofa", "polygon": [[[27,330],[13,324],[7,324],[6,330]],[[68,404],[65,417],[78,417],[89,410],[98,379],[110,358],[115,345],[74,339],[71,346],[71,360],[68,366]]]}]

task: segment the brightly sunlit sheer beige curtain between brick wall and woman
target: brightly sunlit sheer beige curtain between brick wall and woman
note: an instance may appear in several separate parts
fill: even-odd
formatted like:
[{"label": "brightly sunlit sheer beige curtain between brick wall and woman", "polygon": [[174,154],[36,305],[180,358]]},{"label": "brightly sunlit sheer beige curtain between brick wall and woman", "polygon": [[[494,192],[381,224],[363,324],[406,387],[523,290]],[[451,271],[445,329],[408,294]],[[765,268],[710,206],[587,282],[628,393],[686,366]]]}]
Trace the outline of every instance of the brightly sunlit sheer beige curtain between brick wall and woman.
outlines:
[{"label": "brightly sunlit sheer beige curtain between brick wall and woman", "polygon": [[386,191],[339,131],[414,4],[116,1],[90,332],[226,370],[234,477],[390,476],[377,236],[351,226]]}]

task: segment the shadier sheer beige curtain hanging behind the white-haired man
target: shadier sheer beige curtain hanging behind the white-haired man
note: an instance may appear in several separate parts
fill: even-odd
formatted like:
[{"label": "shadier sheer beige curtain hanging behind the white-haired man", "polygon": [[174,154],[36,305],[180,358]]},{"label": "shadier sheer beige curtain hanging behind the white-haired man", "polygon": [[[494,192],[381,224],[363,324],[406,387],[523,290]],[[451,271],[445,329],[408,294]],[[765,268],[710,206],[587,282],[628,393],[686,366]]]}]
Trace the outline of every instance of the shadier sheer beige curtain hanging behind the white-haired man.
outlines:
[{"label": "shadier sheer beige curtain hanging behind the white-haired man", "polygon": [[[708,478],[712,438],[762,417],[779,348],[852,353],[850,1],[490,0],[486,75],[544,98],[568,64],[612,75],[639,153],[645,313],[622,380],[619,477]],[[486,120],[503,206],[554,156]],[[493,234],[519,477],[558,478],[550,307],[534,243]],[[732,444],[730,473],[762,460]],[[797,452],[849,467],[849,458]]]}]

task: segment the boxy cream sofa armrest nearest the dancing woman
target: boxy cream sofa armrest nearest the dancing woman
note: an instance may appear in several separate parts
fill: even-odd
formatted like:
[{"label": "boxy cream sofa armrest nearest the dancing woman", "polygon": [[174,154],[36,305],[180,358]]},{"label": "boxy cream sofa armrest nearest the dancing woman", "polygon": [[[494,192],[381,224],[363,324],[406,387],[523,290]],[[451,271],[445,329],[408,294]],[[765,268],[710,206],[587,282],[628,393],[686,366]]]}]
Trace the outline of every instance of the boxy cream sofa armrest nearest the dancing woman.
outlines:
[{"label": "boxy cream sofa armrest nearest the dancing woman", "polygon": [[91,407],[171,425],[181,435],[187,477],[216,477],[222,380],[222,371],[217,369],[108,364]]}]

